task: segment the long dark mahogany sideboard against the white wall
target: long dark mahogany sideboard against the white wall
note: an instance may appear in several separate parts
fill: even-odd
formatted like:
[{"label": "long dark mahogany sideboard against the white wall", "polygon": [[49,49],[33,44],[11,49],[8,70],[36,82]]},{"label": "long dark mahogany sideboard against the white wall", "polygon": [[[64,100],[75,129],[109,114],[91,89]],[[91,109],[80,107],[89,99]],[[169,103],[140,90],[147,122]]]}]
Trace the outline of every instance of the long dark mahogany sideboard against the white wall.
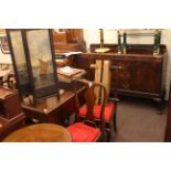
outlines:
[{"label": "long dark mahogany sideboard against the white wall", "polygon": [[164,96],[167,46],[160,45],[160,54],[153,55],[152,45],[131,45],[126,54],[117,53],[117,45],[105,44],[108,53],[95,53],[99,45],[90,46],[89,53],[82,53],[74,57],[73,65],[87,72],[86,77],[94,79],[95,70],[90,64],[96,60],[109,60],[111,62],[111,96],[129,95],[147,97],[162,101]]}]

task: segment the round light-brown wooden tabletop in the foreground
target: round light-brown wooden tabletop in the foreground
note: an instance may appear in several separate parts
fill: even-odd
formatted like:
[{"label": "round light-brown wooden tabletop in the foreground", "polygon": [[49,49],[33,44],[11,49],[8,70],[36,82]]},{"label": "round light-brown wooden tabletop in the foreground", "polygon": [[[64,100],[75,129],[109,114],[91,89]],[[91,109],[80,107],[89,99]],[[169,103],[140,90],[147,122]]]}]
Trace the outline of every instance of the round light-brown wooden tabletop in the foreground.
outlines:
[{"label": "round light-brown wooden tabletop in the foreground", "polygon": [[36,124],[9,135],[3,142],[71,142],[67,129],[54,124]]}]

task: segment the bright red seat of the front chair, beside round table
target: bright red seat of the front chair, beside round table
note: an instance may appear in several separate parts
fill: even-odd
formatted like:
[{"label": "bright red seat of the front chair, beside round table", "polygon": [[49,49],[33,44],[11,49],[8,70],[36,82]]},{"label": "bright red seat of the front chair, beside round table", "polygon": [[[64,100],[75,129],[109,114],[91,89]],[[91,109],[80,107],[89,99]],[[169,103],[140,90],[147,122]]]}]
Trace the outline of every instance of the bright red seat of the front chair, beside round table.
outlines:
[{"label": "bright red seat of the front chair, beside round table", "polygon": [[73,142],[93,142],[100,135],[98,128],[87,126],[82,122],[76,122],[67,127],[72,136]]}]

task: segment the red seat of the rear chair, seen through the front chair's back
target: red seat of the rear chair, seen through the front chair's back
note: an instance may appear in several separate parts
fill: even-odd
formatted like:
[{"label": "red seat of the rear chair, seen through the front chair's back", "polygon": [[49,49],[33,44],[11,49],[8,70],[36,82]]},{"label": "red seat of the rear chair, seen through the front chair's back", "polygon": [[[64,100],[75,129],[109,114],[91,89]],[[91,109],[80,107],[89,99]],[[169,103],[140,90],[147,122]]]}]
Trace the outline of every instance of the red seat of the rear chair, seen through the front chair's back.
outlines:
[{"label": "red seat of the rear chair, seen through the front chair's back", "polygon": [[[95,106],[94,106],[94,117],[97,118],[97,119],[99,119],[100,109],[101,109],[101,106],[100,106],[100,105],[95,105]],[[114,109],[115,109],[114,103],[108,103],[108,104],[105,106],[105,111],[104,111],[105,121],[110,121]],[[79,116],[81,116],[81,117],[85,117],[86,114],[87,114],[87,106],[84,105],[84,106],[81,107],[81,109],[79,109]]]}]

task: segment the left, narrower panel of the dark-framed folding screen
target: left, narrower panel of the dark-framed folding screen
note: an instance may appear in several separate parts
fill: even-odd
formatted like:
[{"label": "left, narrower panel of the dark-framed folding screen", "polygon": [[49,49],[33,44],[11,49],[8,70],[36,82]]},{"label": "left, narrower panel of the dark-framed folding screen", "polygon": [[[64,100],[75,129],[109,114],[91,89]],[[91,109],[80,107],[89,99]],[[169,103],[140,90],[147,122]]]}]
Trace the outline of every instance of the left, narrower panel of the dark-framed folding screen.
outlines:
[{"label": "left, narrower panel of the dark-framed folding screen", "polygon": [[6,32],[12,56],[17,88],[19,89],[20,97],[24,99],[33,93],[30,85],[30,76],[26,64],[26,54],[22,31],[20,29],[7,29]]}]

